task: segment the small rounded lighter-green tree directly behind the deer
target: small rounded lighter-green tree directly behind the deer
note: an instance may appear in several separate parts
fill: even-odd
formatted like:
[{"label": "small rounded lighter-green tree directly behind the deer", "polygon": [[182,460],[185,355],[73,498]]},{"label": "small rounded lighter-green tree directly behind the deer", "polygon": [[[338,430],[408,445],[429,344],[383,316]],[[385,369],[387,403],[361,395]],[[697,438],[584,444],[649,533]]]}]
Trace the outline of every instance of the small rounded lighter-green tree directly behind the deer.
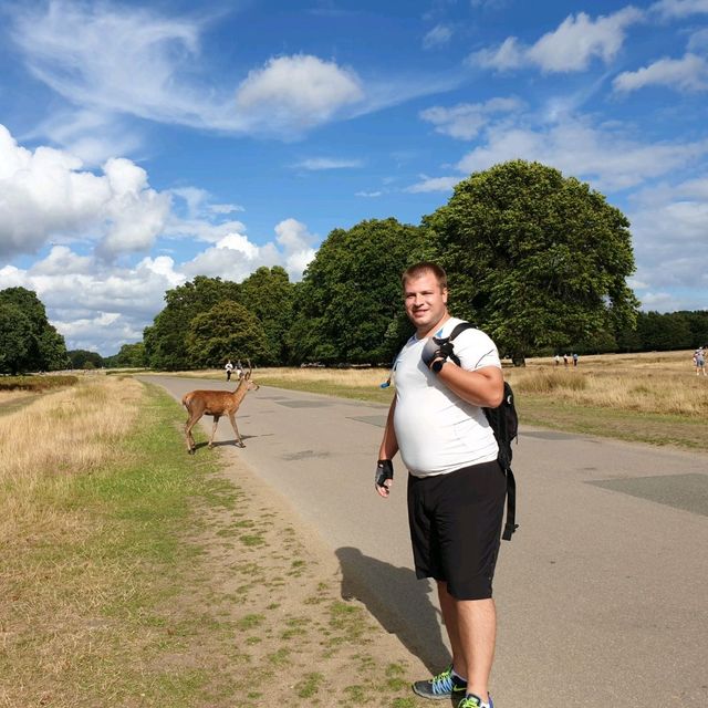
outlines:
[{"label": "small rounded lighter-green tree directly behind the deer", "polygon": [[258,317],[238,302],[223,301],[189,323],[187,348],[197,367],[222,366],[227,358],[268,364],[273,356]]}]

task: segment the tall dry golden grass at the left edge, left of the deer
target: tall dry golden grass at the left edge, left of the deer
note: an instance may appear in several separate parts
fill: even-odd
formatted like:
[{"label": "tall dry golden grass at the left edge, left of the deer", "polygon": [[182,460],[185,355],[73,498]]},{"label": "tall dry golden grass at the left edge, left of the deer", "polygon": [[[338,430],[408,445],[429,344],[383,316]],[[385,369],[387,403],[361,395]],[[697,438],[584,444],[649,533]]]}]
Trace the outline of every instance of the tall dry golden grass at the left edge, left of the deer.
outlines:
[{"label": "tall dry golden grass at the left edge, left of the deer", "polygon": [[79,514],[58,514],[38,494],[61,498],[67,476],[115,459],[142,395],[136,381],[101,376],[0,417],[1,546],[18,540],[18,528],[32,535],[76,531]]}]

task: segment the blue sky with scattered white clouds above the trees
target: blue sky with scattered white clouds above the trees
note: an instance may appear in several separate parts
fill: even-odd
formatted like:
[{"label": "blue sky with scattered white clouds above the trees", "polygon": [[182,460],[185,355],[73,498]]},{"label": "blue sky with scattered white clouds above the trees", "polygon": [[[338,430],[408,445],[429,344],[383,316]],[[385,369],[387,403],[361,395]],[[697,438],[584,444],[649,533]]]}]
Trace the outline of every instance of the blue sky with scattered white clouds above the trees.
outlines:
[{"label": "blue sky with scattered white clouds above the trees", "polygon": [[706,309],[707,96],[708,0],[0,0],[0,289],[110,355],[523,158],[627,215],[643,309]]}]

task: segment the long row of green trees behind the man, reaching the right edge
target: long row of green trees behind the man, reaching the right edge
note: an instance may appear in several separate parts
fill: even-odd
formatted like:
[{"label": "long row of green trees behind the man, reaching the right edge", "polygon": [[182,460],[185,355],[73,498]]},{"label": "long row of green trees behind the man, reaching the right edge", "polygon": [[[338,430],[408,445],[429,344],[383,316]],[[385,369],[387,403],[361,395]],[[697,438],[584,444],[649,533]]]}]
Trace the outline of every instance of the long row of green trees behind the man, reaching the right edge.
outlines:
[{"label": "long row of green trees behind the man, reaching the right edge", "polygon": [[708,312],[638,312],[626,284],[635,269],[629,222],[618,209],[556,169],[512,160],[459,183],[418,226],[389,218],[334,229],[301,282],[278,266],[241,283],[197,275],[165,293],[143,342],[107,358],[70,352],[71,362],[163,371],[228,358],[388,364],[412,334],[400,273],[421,260],[447,270],[450,311],[517,364],[708,343]]}]

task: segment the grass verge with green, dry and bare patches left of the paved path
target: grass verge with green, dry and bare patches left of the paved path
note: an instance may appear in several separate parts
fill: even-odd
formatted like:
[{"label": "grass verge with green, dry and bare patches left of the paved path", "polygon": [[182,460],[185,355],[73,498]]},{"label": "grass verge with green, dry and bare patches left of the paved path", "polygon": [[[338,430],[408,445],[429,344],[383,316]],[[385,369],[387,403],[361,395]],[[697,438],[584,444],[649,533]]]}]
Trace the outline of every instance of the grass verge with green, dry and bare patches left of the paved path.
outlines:
[{"label": "grass verge with green, dry and bare patches left of the paved path", "polygon": [[[71,395],[101,403],[106,385],[137,415],[103,457],[70,469],[74,431],[59,465],[0,473],[0,706],[409,706],[393,680],[406,656],[269,494],[228,478],[218,450],[188,457],[159,388]],[[40,402],[58,445],[75,400]]]}]

